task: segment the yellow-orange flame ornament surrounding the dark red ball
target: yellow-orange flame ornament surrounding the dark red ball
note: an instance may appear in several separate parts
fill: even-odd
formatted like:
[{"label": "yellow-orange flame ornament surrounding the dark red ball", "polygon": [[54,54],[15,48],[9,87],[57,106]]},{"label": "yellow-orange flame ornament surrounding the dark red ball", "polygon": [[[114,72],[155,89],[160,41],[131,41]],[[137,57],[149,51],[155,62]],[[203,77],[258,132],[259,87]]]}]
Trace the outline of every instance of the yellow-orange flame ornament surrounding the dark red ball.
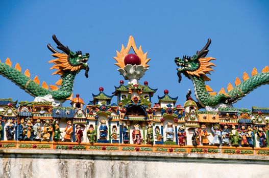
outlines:
[{"label": "yellow-orange flame ornament surrounding the dark red ball", "polygon": [[134,37],[133,36],[129,37],[129,41],[128,41],[128,44],[127,44],[126,48],[124,47],[124,45],[121,45],[120,52],[116,51],[117,56],[113,57],[117,62],[117,63],[115,63],[115,65],[118,66],[119,68],[124,68],[125,67],[124,58],[129,53],[131,47],[133,48],[135,54],[140,58],[141,65],[143,65],[143,67],[149,67],[149,65],[147,65],[147,64],[151,59],[146,58],[146,56],[148,55],[148,52],[143,53],[141,46],[139,46],[139,49],[137,49],[137,47],[135,45],[135,42],[134,42]]}]

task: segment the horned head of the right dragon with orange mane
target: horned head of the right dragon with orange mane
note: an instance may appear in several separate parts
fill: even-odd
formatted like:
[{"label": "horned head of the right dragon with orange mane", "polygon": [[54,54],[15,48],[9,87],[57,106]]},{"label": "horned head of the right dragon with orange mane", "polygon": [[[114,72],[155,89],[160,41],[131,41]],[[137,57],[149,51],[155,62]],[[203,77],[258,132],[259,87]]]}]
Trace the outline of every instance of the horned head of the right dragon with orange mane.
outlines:
[{"label": "horned head of the right dragon with orange mane", "polygon": [[208,47],[210,43],[211,39],[208,39],[205,47],[200,51],[197,51],[192,57],[184,55],[183,58],[175,58],[175,63],[179,67],[177,69],[179,82],[181,81],[181,73],[188,78],[190,78],[190,76],[203,76],[205,80],[210,80],[206,74],[210,74],[210,71],[214,71],[211,66],[215,66],[213,63],[209,63],[211,60],[215,60],[215,58],[205,57],[209,51]]}]

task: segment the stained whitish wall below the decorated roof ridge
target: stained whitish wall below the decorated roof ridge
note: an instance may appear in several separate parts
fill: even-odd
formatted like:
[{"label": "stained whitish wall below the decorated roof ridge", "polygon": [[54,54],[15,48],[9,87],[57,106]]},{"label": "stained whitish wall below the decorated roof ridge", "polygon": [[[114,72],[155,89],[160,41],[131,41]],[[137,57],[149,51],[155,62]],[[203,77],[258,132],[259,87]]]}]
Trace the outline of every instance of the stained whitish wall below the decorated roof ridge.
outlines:
[{"label": "stained whitish wall below the decorated roof ridge", "polygon": [[268,177],[268,156],[0,150],[0,177]]}]

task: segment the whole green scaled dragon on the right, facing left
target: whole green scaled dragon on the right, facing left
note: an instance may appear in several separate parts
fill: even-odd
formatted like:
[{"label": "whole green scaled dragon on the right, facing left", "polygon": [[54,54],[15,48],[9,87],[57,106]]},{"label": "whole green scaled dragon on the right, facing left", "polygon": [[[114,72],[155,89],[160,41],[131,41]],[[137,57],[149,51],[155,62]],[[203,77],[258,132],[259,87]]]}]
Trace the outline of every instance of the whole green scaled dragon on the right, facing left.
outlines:
[{"label": "whole green scaled dragon on the right, facing left", "polygon": [[262,69],[262,73],[257,73],[257,69],[254,68],[252,77],[249,77],[248,74],[244,72],[242,82],[237,77],[235,87],[229,83],[227,93],[224,88],[218,93],[213,92],[211,87],[205,84],[205,81],[210,80],[206,74],[210,74],[210,71],[214,71],[211,67],[215,66],[213,63],[210,63],[210,61],[215,60],[215,58],[206,57],[209,52],[208,47],[210,43],[211,39],[208,39],[204,48],[197,51],[192,57],[184,55],[183,58],[175,58],[175,63],[179,67],[177,69],[179,82],[181,81],[181,73],[192,80],[195,96],[200,107],[206,108],[206,110],[216,110],[218,107],[232,107],[232,103],[240,100],[256,87],[269,82],[268,66]]}]

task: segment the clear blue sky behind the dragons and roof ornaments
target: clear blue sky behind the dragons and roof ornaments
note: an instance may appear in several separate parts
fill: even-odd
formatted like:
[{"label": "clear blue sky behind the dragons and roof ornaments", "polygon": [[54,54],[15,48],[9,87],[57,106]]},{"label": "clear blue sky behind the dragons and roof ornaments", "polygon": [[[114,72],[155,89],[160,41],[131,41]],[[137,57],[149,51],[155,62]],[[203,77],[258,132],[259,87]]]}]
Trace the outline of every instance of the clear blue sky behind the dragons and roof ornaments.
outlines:
[{"label": "clear blue sky behind the dragons and roof ornaments", "polygon": [[[10,57],[13,66],[18,62],[41,83],[59,79],[47,63],[53,59],[46,47],[54,45],[53,34],[71,50],[89,52],[89,78],[81,72],[74,86],[85,103],[100,86],[110,95],[123,79],[112,57],[130,35],[151,58],[140,83],[158,88],[153,102],[167,89],[170,96],[179,96],[177,104],[184,104],[193,85],[184,76],[178,83],[174,58],[193,55],[208,38],[208,56],[217,61],[207,84],[216,92],[244,71],[250,75],[253,67],[261,72],[269,65],[268,1],[1,1],[0,19],[0,59]],[[6,78],[0,76],[0,81],[0,98],[34,99]],[[269,85],[263,85],[234,106],[269,107],[268,91]]]}]

